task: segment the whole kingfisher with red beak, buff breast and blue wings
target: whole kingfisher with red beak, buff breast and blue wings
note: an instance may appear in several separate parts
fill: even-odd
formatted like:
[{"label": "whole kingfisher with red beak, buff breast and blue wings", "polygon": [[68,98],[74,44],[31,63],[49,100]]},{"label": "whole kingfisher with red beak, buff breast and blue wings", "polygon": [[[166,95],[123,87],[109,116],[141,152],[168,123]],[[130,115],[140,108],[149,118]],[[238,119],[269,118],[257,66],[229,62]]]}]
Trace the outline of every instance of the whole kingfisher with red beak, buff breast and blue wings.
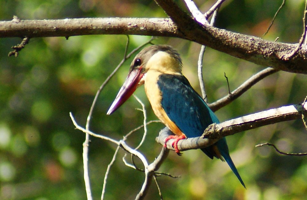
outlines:
[{"label": "whole kingfisher with red beak, buff breast and blue wings", "polygon": [[[128,76],[111,104],[107,115],[117,110],[138,88],[144,84],[146,96],[154,114],[174,135],[169,139],[176,153],[181,155],[177,143],[181,139],[199,137],[213,123],[220,123],[202,97],[192,88],[182,74],[182,60],[169,45],[151,45],[142,49],[133,59]],[[226,161],[245,187],[235,167],[225,137],[209,147],[201,149],[210,159]]]}]

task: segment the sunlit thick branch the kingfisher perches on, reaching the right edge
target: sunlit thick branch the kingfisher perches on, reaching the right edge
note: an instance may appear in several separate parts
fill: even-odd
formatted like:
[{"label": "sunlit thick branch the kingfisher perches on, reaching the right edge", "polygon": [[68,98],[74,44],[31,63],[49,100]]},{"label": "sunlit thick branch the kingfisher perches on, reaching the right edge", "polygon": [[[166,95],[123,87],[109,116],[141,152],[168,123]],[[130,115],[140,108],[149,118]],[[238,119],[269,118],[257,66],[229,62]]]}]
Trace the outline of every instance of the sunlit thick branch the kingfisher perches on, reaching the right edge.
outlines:
[{"label": "sunlit thick branch the kingfisher perches on, reaching the right edge", "polygon": [[[220,124],[211,124],[209,127],[207,127],[202,136],[180,140],[178,142],[178,148],[180,151],[186,151],[190,149],[208,147],[215,143],[218,139],[227,135],[233,135],[238,132],[254,129],[268,124],[299,119],[301,118],[302,114],[307,115],[307,103],[273,108],[267,111],[228,120]],[[171,134],[172,132],[165,127],[160,131],[156,141],[163,145],[166,137]],[[173,147],[171,146],[172,142],[173,140],[171,139],[167,143],[167,148],[173,150]]]}]

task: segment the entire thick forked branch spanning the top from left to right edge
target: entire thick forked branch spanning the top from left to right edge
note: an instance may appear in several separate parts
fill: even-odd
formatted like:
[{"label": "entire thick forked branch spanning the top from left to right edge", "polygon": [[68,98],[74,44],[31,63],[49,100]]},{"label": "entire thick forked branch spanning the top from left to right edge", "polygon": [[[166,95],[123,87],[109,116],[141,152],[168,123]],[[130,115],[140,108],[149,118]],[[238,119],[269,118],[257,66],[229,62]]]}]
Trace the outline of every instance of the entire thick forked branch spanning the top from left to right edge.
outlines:
[{"label": "entire thick forked branch spanning the top from left to right edge", "polygon": [[[307,48],[302,45],[295,56],[283,58],[298,44],[266,41],[201,25],[171,0],[157,0],[169,18],[79,18],[59,20],[1,21],[0,37],[70,37],[93,34],[134,34],[178,37],[207,45],[218,51],[287,72],[307,74]],[[174,23],[175,22],[175,23]]]}]

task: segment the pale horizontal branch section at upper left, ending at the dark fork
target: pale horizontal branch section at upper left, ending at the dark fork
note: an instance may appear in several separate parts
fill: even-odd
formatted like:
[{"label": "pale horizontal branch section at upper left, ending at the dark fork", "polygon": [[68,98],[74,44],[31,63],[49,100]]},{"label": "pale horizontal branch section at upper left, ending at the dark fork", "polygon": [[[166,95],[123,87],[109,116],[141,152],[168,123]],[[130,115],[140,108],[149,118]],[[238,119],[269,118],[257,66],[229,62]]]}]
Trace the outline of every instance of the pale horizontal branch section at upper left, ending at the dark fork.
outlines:
[{"label": "pale horizontal branch section at upper left, ending at the dark fork", "polygon": [[0,37],[70,37],[76,35],[150,35],[183,37],[169,18],[78,18],[0,21]]}]

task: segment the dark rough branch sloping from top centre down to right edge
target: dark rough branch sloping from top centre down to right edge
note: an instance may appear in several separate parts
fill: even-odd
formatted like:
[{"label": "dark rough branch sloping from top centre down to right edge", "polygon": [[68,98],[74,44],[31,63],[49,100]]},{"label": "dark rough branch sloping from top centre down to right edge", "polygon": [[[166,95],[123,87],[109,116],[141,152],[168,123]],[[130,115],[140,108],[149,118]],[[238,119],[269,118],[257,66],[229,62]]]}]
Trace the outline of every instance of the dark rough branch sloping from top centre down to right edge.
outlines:
[{"label": "dark rough branch sloping from top centre down to right edge", "polygon": [[159,6],[178,26],[185,39],[207,45],[229,55],[254,62],[258,65],[272,66],[294,73],[307,74],[307,48],[302,46],[295,56],[285,60],[298,44],[285,44],[266,41],[258,37],[233,33],[208,24],[200,24],[185,13],[173,0],[156,0]]}]

